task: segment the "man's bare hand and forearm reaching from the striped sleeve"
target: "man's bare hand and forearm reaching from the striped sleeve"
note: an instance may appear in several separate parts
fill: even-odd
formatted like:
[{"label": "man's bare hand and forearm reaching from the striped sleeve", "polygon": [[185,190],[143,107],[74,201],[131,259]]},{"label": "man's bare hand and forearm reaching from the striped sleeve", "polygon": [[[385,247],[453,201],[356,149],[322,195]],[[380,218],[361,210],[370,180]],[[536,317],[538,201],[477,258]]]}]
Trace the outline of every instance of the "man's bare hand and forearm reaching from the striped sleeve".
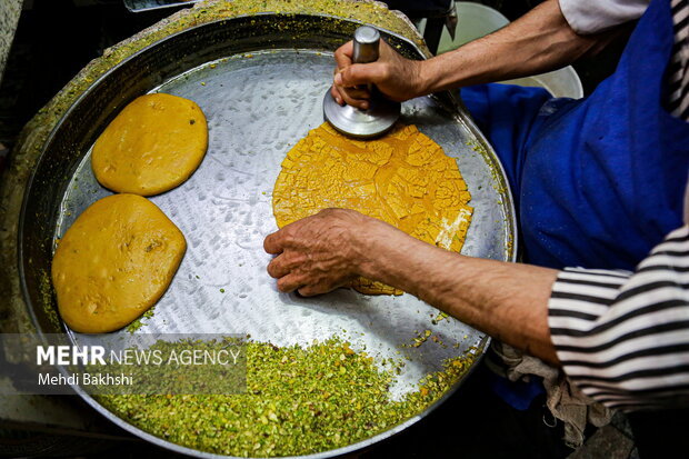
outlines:
[{"label": "man's bare hand and forearm reaching from the striped sleeve", "polygon": [[324,293],[356,276],[400,288],[501,341],[557,363],[548,300],[558,271],[463,257],[380,220],[329,209],[266,238],[281,291]]}]

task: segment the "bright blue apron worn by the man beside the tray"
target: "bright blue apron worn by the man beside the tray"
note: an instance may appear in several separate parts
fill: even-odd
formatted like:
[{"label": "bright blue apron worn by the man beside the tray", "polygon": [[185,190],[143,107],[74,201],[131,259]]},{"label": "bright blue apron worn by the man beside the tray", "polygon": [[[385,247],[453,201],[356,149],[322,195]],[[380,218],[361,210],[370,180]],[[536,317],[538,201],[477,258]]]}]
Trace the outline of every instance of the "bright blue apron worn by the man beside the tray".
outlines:
[{"label": "bright blue apron worn by the man beside the tray", "polygon": [[[633,270],[682,224],[689,123],[663,107],[672,46],[670,1],[653,0],[615,73],[586,99],[507,84],[461,90],[506,169],[525,261]],[[537,392],[530,385],[503,398],[526,408]]]}]

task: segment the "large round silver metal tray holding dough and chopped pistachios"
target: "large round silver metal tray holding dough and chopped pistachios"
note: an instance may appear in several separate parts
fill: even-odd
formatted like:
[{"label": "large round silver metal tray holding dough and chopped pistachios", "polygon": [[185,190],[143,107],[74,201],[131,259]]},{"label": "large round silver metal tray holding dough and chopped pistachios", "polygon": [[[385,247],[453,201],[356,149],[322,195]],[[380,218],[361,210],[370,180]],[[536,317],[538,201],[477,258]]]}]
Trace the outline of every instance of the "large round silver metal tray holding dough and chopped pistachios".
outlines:
[{"label": "large round silver metal tray holding dough and chopped pistachios", "polygon": [[[250,333],[274,345],[308,345],[333,335],[366,347],[379,361],[432,329],[446,346],[407,348],[408,362],[392,396],[411,390],[445,359],[488,338],[458,320],[431,318],[437,310],[410,295],[367,297],[338,290],[317,298],[280,293],[266,272],[263,238],[277,229],[271,191],[287,151],[322,120],[322,98],[332,79],[332,51],[347,41],[355,21],[326,16],[257,14],[190,28],[133,54],[94,82],[68,110],[46,142],[27,188],[19,231],[23,295],[37,328],[67,332],[76,343],[98,337],[73,333],[51,320],[54,298],[46,295],[50,260],[59,238],[90,203],[110,193],[94,180],[90,149],[110,120],[136,97],[154,91],[194,100],[209,123],[208,153],[181,187],[152,198],[182,230],[188,250],[146,333]],[[298,31],[298,32],[297,32]],[[410,58],[423,54],[410,41],[383,31]],[[415,123],[456,158],[472,196],[473,220],[465,255],[513,260],[515,218],[509,187],[490,146],[449,93],[402,104],[401,121]],[[461,273],[458,273],[461,276]],[[221,291],[221,289],[223,291]],[[120,331],[119,333],[127,333]],[[452,346],[457,345],[457,346]],[[456,385],[446,397],[459,386]],[[153,437],[106,410],[96,410],[128,431],[171,450],[191,450]],[[441,403],[440,399],[435,406]],[[347,448],[388,438],[425,412],[387,432]]]}]

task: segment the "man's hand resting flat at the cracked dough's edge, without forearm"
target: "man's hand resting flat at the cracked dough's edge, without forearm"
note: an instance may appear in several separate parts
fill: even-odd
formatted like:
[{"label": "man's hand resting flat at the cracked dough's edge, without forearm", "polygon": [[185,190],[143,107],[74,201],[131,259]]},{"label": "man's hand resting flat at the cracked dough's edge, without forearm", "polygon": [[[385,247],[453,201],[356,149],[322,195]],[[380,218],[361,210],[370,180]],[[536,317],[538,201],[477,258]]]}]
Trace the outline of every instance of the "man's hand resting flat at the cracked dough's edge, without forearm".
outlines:
[{"label": "man's hand resting flat at the cracked dough's edge, without forearm", "polygon": [[286,226],[263,241],[266,251],[277,255],[268,273],[280,291],[304,297],[342,287],[359,276],[358,236],[366,237],[371,220],[353,210],[326,209]]}]

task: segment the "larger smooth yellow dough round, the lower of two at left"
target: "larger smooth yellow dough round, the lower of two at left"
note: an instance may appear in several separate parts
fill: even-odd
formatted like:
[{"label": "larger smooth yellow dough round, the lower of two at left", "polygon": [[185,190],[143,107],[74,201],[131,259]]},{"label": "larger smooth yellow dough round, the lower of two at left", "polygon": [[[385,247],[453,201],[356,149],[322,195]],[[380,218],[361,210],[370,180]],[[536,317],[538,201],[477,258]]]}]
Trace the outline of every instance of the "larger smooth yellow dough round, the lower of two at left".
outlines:
[{"label": "larger smooth yellow dough round, the lower of two at left", "polygon": [[182,232],[148,199],[113,194],[96,201],[52,259],[60,316],[83,333],[124,327],[160,299],[186,249]]}]

